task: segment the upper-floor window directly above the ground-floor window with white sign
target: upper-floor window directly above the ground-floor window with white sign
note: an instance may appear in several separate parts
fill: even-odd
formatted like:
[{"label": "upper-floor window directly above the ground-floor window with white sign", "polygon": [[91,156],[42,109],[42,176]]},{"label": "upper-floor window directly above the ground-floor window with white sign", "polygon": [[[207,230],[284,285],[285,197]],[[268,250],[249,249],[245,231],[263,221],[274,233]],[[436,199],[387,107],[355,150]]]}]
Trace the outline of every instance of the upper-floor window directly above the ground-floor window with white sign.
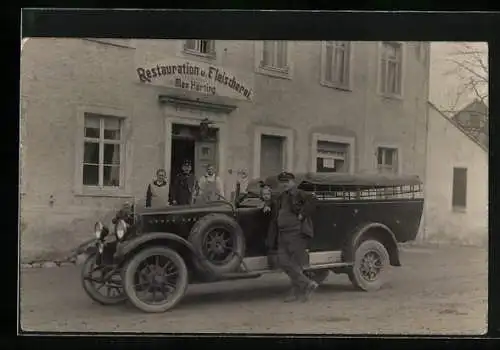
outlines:
[{"label": "upper-floor window directly above the ground-floor window with white sign", "polygon": [[351,43],[327,41],[324,49],[323,82],[335,87],[349,87]]}]

